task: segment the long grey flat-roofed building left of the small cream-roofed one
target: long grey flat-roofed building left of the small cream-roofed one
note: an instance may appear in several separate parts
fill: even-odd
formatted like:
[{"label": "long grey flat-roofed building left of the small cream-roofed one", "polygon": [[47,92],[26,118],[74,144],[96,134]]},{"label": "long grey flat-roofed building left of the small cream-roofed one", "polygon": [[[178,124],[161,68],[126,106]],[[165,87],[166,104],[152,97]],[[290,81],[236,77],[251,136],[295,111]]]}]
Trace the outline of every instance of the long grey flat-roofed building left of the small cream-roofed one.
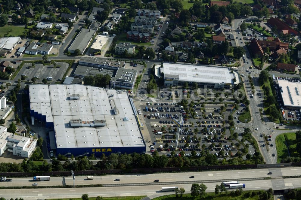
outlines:
[{"label": "long grey flat-roofed building left of the small cream-roofed one", "polygon": [[80,50],[80,53],[83,54],[88,47],[89,43],[93,39],[96,30],[93,29],[82,29],[79,34],[75,37],[73,43],[70,45],[68,51],[74,53],[76,49]]}]

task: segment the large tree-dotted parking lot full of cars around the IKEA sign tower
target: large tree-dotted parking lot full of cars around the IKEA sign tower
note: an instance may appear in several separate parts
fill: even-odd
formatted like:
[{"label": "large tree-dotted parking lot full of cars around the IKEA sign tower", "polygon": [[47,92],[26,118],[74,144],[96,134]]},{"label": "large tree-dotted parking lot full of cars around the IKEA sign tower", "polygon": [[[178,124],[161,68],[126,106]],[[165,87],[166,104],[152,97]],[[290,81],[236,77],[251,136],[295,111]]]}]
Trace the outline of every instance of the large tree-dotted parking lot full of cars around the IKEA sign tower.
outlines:
[{"label": "large tree-dotted parking lot full of cars around the IKEA sign tower", "polygon": [[[145,116],[147,129],[154,146],[151,153],[156,149],[160,154],[172,156],[171,151],[176,148],[175,134],[178,130],[172,118],[177,120],[182,113],[184,121],[182,129],[180,129],[178,150],[175,151],[175,156],[179,156],[178,153],[181,150],[185,151],[185,156],[191,156],[192,151],[196,152],[196,156],[203,156],[200,155],[202,150],[208,150],[209,153],[215,154],[220,159],[234,156],[237,153],[235,147],[237,141],[228,140],[230,131],[227,129],[228,125],[225,122],[223,124],[224,119],[228,119],[232,105],[225,108],[224,116],[222,116],[219,111],[224,105],[208,104],[202,107],[201,104],[196,103],[191,108],[196,113],[192,118],[191,114],[186,113],[187,109],[183,110],[181,106],[173,102],[141,104],[140,110]],[[160,148],[160,145],[163,145],[163,149]],[[219,154],[221,150],[223,155]]]}]

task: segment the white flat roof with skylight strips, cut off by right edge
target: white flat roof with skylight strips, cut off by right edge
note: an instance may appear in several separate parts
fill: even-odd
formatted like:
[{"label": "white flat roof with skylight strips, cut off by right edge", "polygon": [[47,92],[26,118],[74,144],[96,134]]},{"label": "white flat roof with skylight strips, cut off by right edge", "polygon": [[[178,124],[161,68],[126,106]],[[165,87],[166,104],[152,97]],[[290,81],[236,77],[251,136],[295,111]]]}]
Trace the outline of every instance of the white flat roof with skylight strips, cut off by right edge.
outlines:
[{"label": "white flat roof with skylight strips, cut off by right edge", "polygon": [[301,83],[278,80],[284,106],[301,108]]}]

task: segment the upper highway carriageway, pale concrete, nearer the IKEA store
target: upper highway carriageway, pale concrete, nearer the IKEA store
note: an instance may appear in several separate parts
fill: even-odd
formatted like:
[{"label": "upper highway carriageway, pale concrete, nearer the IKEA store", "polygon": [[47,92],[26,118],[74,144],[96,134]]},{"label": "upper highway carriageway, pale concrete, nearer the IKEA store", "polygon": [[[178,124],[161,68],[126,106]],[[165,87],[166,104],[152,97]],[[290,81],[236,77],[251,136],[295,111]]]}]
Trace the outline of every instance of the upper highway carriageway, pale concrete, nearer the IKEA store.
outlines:
[{"label": "upper highway carriageway, pale concrete, nearer the IKEA store", "polygon": [[[268,175],[272,172],[272,175]],[[89,184],[126,184],[126,183],[153,183],[159,179],[160,182],[178,182],[178,181],[207,181],[207,180],[233,180],[233,179],[248,179],[248,178],[267,178],[267,177],[282,177],[282,176],[297,176],[301,175],[301,167],[293,168],[261,168],[247,170],[228,170],[228,171],[194,171],[183,173],[158,173],[158,174],[126,174],[126,175],[108,175],[95,176],[93,180],[86,180],[86,177],[75,177],[75,185]],[[194,179],[190,179],[194,176]],[[9,178],[9,177],[7,177]],[[120,181],[114,181],[115,179]],[[30,178],[13,178],[12,182],[0,182],[0,186],[31,186],[33,183],[38,183],[39,186],[60,186],[73,185],[73,177],[51,177],[49,181],[34,181]]]}]

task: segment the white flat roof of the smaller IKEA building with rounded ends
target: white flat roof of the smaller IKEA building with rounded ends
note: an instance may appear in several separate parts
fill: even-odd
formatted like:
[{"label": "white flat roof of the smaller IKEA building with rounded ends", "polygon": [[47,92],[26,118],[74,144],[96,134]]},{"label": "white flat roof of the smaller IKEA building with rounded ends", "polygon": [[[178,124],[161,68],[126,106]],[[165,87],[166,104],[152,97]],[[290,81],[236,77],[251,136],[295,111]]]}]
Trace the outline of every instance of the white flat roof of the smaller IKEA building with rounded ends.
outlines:
[{"label": "white flat roof of the smaller IKEA building with rounded ends", "polygon": [[180,81],[200,83],[233,84],[235,77],[228,68],[175,63],[163,63],[160,72],[164,72],[164,75],[178,75]]}]

